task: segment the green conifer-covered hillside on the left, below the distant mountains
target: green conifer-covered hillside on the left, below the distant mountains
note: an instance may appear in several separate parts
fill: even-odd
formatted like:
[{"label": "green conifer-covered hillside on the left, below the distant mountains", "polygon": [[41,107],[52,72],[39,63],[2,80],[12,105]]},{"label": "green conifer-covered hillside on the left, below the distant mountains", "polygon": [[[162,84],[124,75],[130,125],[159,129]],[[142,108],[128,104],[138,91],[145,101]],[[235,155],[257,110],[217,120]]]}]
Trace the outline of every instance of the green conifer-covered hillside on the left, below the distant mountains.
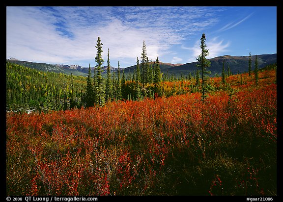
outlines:
[{"label": "green conifer-covered hillside on the left, below the distant mountains", "polygon": [[[72,81],[73,80],[73,81]],[[73,84],[72,84],[73,82]],[[82,105],[86,79],[6,63],[6,109],[49,111]]]}]

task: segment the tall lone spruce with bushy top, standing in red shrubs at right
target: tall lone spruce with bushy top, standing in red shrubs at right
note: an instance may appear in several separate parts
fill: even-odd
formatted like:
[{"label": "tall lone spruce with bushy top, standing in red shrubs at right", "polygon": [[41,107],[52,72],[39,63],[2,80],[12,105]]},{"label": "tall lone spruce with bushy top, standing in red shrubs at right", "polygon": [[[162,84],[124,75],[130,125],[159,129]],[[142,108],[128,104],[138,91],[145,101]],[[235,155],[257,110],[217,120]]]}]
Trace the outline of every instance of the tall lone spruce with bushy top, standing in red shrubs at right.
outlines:
[{"label": "tall lone spruce with bushy top, standing in red shrubs at right", "polygon": [[200,72],[201,72],[201,101],[204,102],[204,99],[206,97],[205,95],[205,75],[209,74],[210,72],[207,71],[207,67],[210,67],[210,61],[208,59],[206,59],[206,56],[208,56],[209,52],[208,49],[206,49],[206,44],[205,44],[205,34],[203,33],[201,38],[200,38],[200,49],[201,49],[201,53],[200,55],[198,55],[198,58],[196,58],[199,62],[199,64],[197,64],[198,67],[201,68]]}]

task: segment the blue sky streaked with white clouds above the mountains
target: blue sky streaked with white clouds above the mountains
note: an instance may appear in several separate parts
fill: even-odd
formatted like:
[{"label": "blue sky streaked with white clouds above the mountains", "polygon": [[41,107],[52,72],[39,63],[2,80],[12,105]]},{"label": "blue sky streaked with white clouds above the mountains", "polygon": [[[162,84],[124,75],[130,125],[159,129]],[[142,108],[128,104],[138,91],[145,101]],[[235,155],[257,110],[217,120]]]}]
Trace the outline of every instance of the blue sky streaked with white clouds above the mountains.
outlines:
[{"label": "blue sky streaked with white clouds above the mountains", "polygon": [[209,55],[277,53],[276,6],[6,7],[6,59],[91,67],[100,37],[107,65],[125,68],[147,57],[195,62],[205,34]]}]

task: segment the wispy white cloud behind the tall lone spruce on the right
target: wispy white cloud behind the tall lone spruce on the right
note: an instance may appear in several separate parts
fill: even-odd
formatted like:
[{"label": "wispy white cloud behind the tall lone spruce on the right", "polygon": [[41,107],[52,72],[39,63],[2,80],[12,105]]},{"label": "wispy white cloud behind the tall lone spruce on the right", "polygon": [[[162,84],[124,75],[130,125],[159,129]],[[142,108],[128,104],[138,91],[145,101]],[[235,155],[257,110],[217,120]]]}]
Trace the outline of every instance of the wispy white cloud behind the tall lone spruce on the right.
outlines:
[{"label": "wispy white cloud behind the tall lone spruce on the right", "polygon": [[[192,57],[188,58],[187,62],[196,62],[196,58],[201,53],[201,49],[199,48],[200,41],[196,41],[193,47],[184,47],[181,46],[182,49],[190,50],[192,53]],[[209,51],[209,55],[206,57],[207,59],[217,57],[221,55],[223,52],[227,52],[227,48],[230,46],[230,42],[224,43],[224,40],[218,40],[218,37],[214,37],[212,40],[208,40],[205,42],[206,48]]]}]

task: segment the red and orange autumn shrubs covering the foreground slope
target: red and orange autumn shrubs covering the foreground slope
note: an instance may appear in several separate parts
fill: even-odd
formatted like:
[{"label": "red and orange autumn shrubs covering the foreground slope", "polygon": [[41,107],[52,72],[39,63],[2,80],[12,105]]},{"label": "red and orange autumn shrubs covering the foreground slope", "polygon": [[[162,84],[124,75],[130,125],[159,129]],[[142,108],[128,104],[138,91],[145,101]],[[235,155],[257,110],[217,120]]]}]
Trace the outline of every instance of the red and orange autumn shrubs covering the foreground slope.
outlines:
[{"label": "red and orange autumn shrubs covering the foreground slope", "polygon": [[9,112],[6,193],[276,195],[277,85],[260,76],[203,103],[196,92]]}]

